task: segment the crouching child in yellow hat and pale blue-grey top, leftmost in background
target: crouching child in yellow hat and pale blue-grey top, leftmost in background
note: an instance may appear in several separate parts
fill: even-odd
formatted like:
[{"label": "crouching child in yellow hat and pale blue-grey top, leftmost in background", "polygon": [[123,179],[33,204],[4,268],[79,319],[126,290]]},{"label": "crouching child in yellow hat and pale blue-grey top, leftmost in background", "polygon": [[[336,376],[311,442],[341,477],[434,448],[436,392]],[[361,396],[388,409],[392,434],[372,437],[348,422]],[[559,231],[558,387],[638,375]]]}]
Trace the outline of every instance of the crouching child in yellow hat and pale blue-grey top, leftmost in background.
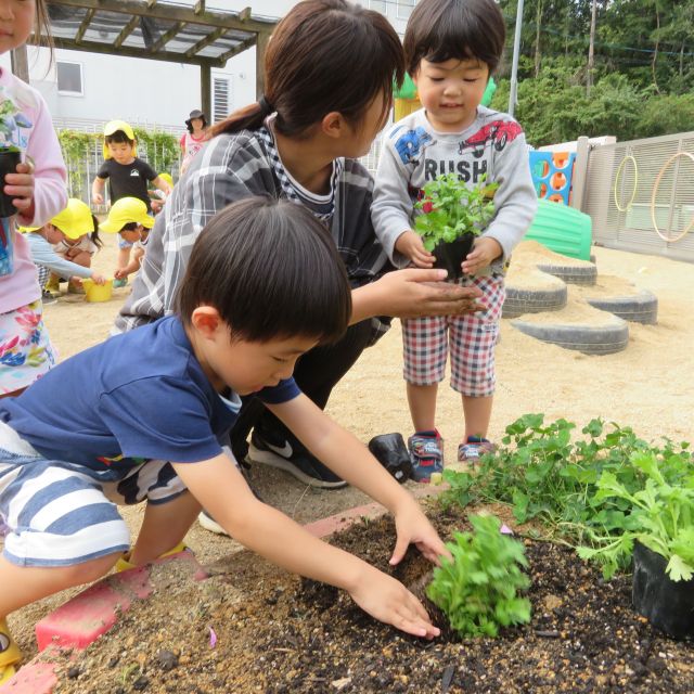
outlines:
[{"label": "crouching child in yellow hat and pale blue-grey top, leftmost in background", "polygon": [[[85,203],[75,198],[69,200],[67,207],[42,227],[20,227],[20,231],[26,234],[31,259],[38,269],[41,287],[46,285],[50,272],[68,280],[77,277],[89,278],[97,284],[106,282],[106,278],[102,274],[92,271],[91,268],[67,260],[55,253],[53,247],[67,239],[77,240],[93,230],[91,210]],[[49,292],[42,290],[42,293],[44,304],[55,301],[55,297]]]}]

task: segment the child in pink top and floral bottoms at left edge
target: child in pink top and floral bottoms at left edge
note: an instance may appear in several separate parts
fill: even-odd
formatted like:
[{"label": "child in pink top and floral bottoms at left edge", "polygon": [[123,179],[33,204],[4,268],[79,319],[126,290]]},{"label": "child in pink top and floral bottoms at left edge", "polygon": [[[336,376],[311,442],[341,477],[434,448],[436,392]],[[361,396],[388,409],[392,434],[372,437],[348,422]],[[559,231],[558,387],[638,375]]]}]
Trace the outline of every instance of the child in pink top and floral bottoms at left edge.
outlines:
[{"label": "child in pink top and floral bottoms at left edge", "polygon": [[[48,33],[44,0],[0,0],[0,53],[23,46],[31,30]],[[41,288],[26,239],[16,224],[39,227],[67,203],[67,172],[41,94],[0,68],[0,398],[14,396],[43,375],[55,355],[43,325]],[[17,158],[24,152],[23,162]]]}]

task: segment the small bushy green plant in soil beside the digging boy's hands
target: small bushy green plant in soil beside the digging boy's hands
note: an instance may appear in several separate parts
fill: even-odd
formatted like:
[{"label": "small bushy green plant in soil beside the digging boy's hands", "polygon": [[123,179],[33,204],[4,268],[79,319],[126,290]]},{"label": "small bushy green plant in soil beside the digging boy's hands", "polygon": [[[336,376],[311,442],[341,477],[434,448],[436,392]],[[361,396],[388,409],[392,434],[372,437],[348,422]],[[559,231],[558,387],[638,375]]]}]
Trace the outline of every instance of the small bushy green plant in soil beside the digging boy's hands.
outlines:
[{"label": "small bushy green plant in soil beside the digging boy's hands", "polygon": [[530,621],[523,543],[502,535],[496,516],[471,516],[474,532],[455,532],[446,547],[453,560],[434,569],[426,589],[461,635],[496,637],[500,627]]}]

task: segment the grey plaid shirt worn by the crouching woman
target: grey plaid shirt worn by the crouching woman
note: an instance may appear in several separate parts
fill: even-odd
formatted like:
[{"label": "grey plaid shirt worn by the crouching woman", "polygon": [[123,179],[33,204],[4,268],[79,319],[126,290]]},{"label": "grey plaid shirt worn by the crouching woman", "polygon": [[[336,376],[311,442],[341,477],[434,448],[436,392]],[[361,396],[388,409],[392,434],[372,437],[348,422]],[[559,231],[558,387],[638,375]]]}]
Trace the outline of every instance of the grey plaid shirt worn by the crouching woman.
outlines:
[{"label": "grey plaid shirt worn by the crouching woman", "polygon": [[[281,163],[273,160],[262,141],[267,133],[261,128],[217,136],[193,158],[156,218],[142,267],[113,334],[176,310],[177,288],[193,243],[217,211],[250,195],[287,197],[278,178],[278,172],[282,175],[278,168]],[[334,213],[327,223],[352,287],[368,284],[391,268],[371,223],[372,191],[373,180],[361,164],[355,159],[339,162]],[[380,319],[373,323],[375,340],[388,325]]]}]

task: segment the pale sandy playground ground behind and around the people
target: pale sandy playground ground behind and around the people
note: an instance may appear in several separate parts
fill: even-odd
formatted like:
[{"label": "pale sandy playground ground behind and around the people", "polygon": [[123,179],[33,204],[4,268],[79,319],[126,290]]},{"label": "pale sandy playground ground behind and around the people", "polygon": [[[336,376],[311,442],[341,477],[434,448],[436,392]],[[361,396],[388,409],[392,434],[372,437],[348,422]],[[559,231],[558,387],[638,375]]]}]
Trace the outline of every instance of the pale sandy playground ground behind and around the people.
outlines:
[{"label": "pale sandy playground ground behind and around the people", "polygon": [[[97,256],[95,267],[112,272],[116,249],[112,237]],[[595,248],[599,272],[633,282],[659,300],[657,325],[630,324],[629,346],[609,356],[584,356],[540,343],[502,321],[497,350],[498,391],[491,439],[528,412],[543,412],[548,421],[566,417],[580,426],[601,416],[632,426],[646,439],[667,436],[678,441],[694,434],[694,293],[692,266],[655,256]],[[63,296],[46,308],[46,322],[62,359],[102,340],[129,288],[114,291],[112,300],[90,304],[80,296]],[[376,434],[410,434],[410,417],[401,378],[399,323],[368,350],[335,389],[329,413],[358,438]],[[133,358],[137,356],[133,355]],[[85,377],[88,377],[86,374]],[[143,413],[146,404],[143,403]],[[463,423],[459,396],[447,384],[439,393],[438,427],[448,460],[454,460]],[[256,470],[260,467],[259,470]],[[365,501],[354,489],[316,491],[293,477],[256,466],[254,485],[264,498],[299,522],[323,517]],[[413,483],[409,483],[413,484]],[[137,531],[141,510],[127,519]],[[188,543],[205,563],[236,548],[223,537],[191,529]],[[30,652],[33,625],[67,595],[26,607],[11,618],[21,645]]]}]

